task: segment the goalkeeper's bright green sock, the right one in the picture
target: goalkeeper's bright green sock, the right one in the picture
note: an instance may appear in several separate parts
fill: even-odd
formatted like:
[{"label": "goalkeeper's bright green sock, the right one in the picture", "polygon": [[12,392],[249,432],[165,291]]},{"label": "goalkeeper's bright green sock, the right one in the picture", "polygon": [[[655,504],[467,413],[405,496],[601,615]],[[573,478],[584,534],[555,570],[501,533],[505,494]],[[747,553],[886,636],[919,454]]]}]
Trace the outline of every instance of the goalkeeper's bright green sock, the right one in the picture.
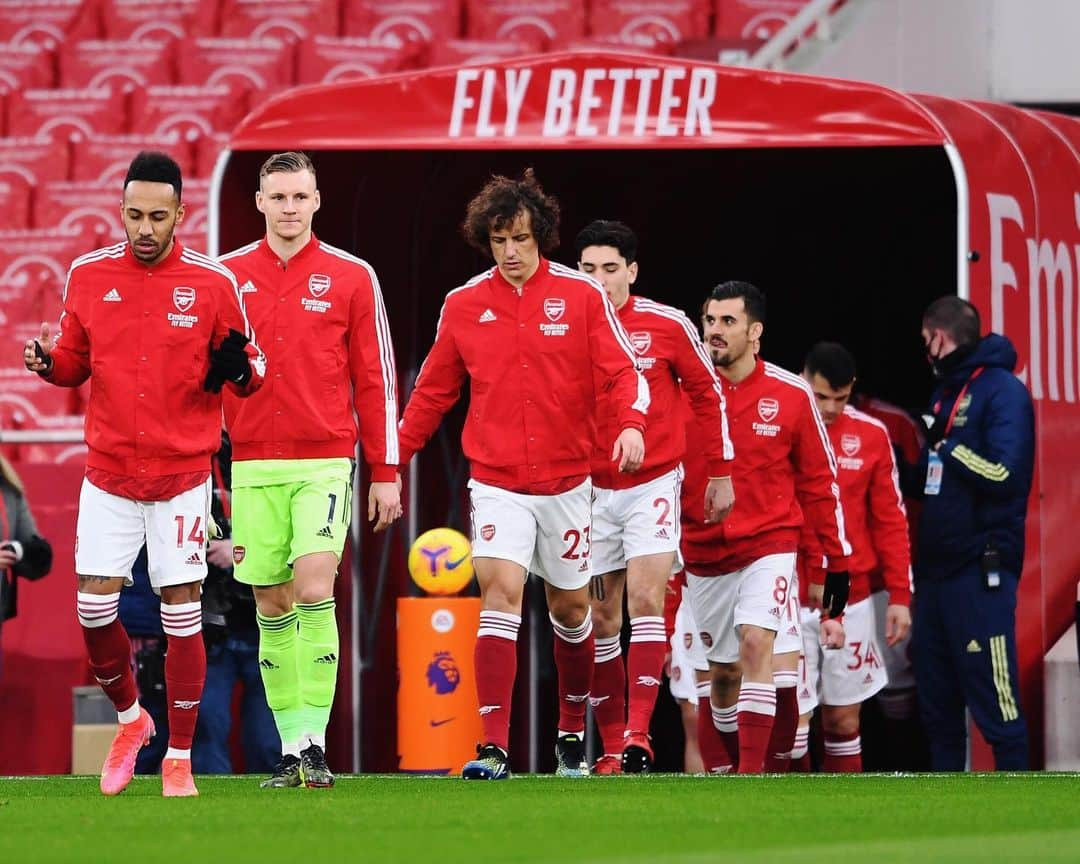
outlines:
[{"label": "goalkeeper's bright green sock, the right one in the picture", "polygon": [[337,687],[338,632],[334,598],[319,603],[297,603],[299,621],[297,658],[305,735],[325,747],[326,725]]}]

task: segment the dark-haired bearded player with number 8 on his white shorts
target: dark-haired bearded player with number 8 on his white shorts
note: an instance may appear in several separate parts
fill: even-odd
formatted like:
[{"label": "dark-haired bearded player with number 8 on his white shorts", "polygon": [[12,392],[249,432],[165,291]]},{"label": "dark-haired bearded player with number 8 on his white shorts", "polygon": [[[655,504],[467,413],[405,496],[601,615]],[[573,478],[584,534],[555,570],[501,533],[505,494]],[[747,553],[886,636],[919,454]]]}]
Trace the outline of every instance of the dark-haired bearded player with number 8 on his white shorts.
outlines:
[{"label": "dark-haired bearded player with number 8 on his white shorts", "polygon": [[738,764],[740,773],[759,773],[766,753],[794,745],[801,650],[795,555],[804,518],[828,556],[826,615],[842,612],[848,597],[851,548],[833,448],[807,382],[756,356],[765,313],[765,296],[747,282],[718,285],[702,310],[737,454],[739,504],[718,524],[702,512],[706,430],[685,410],[683,557],[713,676],[712,699],[698,706],[698,743],[712,771]]}]

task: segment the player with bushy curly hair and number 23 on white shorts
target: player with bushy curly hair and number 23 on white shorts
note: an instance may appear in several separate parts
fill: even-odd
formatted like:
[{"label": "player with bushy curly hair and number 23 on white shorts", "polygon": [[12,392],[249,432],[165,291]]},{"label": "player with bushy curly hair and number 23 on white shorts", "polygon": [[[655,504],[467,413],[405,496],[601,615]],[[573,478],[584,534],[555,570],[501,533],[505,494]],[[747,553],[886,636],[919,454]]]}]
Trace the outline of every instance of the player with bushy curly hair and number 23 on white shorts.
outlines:
[{"label": "player with bushy curly hair and number 23 on white shorts", "polygon": [[616,470],[645,457],[649,391],[610,300],[591,276],[548,260],[558,204],[526,171],[494,177],[469,203],[467,241],[495,267],[450,292],[405,408],[402,458],[431,437],[468,376],[461,444],[469,458],[473,561],[482,595],[476,689],[484,738],[469,780],[509,775],[510,699],[525,579],[546,582],[558,671],[557,773],[589,773],[585,707],[593,679],[592,483],[595,380],[617,419]]}]

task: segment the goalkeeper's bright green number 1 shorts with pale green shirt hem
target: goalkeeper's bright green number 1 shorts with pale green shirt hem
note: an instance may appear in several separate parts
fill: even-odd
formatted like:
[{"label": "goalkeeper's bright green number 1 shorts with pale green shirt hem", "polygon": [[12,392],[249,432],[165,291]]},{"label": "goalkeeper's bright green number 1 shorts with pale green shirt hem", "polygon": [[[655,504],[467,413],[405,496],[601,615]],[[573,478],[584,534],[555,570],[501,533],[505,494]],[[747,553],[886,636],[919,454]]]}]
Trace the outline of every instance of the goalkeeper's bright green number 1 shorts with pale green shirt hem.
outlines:
[{"label": "goalkeeper's bright green number 1 shorts with pale green shirt hem", "polygon": [[278,459],[232,467],[233,576],[279,585],[313,552],[340,559],[352,521],[351,459]]}]

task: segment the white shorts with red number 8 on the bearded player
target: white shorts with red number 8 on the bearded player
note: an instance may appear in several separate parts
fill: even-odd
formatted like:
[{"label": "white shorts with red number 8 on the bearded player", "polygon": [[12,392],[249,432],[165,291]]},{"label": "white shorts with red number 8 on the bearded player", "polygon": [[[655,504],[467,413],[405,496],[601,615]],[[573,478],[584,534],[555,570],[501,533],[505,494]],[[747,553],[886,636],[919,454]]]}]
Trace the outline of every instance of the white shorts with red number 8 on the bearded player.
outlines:
[{"label": "white shorts with red number 8 on the bearded player", "polygon": [[794,581],[794,552],[766,555],[724,576],[693,576],[687,570],[687,593],[705,657],[714,663],[739,660],[738,627],[743,624],[779,633],[788,617]]}]

